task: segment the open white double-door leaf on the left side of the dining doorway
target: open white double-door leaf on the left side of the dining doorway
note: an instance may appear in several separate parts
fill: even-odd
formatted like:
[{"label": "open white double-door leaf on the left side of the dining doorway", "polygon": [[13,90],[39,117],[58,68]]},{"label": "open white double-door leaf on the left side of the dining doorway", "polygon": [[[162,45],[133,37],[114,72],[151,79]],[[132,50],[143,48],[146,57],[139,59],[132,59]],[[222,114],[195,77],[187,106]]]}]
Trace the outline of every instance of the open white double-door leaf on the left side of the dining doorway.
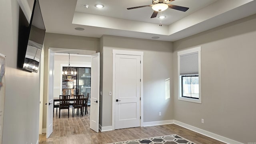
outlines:
[{"label": "open white double-door leaf on the left side of the dining doorway", "polygon": [[54,52],[49,49],[49,84],[48,84],[48,99],[47,99],[47,122],[46,122],[46,138],[52,134],[53,130],[53,70],[54,70]]}]

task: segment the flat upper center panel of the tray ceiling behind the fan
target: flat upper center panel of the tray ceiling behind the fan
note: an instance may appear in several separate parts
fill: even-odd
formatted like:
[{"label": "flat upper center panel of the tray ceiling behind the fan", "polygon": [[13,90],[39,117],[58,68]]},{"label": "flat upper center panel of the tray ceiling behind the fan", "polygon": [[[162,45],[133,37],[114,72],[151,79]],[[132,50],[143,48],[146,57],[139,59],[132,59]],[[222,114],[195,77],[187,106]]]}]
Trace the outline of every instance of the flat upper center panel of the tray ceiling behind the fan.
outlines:
[{"label": "flat upper center panel of the tray ceiling behind the fan", "polygon": [[[189,7],[189,10],[186,12],[174,9],[167,9],[163,11],[162,15],[166,16],[166,19],[162,20],[162,24],[172,24],[173,22],[176,22],[177,20],[180,20],[181,18],[192,14],[196,10],[199,10],[200,8],[203,8],[216,1],[217,0],[174,0],[169,4]],[[100,10],[96,8],[94,5],[97,3],[103,4],[104,8]],[[89,7],[84,8],[84,4],[88,4]],[[127,10],[127,8],[130,7],[144,6],[150,4],[152,4],[152,0],[77,0],[76,12],[159,24],[159,14],[157,18],[150,18],[153,13],[151,7]]]}]

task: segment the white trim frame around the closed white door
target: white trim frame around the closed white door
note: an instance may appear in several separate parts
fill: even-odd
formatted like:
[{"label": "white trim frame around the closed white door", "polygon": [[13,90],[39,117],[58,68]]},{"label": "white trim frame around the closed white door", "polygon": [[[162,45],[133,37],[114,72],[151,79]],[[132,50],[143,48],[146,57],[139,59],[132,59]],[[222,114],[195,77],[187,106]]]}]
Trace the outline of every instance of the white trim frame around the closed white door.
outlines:
[{"label": "white trim frame around the closed white door", "polygon": [[112,130],[115,130],[115,103],[116,103],[116,54],[140,56],[140,126],[143,126],[143,55],[144,52],[130,50],[112,50],[113,53],[113,88],[112,88]]}]

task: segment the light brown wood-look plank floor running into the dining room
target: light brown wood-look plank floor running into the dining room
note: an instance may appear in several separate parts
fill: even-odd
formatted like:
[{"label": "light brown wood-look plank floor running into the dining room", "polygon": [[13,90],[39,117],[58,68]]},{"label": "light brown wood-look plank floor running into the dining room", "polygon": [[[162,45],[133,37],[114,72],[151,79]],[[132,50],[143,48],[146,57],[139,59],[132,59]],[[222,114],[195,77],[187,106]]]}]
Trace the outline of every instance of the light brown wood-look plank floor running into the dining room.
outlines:
[{"label": "light brown wood-look plank floor running into the dining room", "polygon": [[68,110],[61,110],[60,118],[56,116],[56,111],[54,112],[53,133],[48,139],[46,139],[46,134],[40,134],[39,144],[107,144],[170,134],[178,134],[196,144],[225,144],[176,124],[125,128],[96,133],[90,129],[90,107],[88,107],[88,114],[75,115],[74,118],[72,118],[71,108],[69,118]]}]

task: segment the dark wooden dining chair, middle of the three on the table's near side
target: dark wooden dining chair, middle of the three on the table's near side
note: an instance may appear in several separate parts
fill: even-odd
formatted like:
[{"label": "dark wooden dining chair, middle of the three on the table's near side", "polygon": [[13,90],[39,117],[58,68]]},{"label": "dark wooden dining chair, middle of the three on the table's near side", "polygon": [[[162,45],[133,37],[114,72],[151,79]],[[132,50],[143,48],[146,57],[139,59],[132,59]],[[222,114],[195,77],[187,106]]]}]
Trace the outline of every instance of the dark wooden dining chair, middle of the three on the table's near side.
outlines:
[{"label": "dark wooden dining chair, middle of the three on the table's near side", "polygon": [[77,108],[77,114],[79,114],[79,108],[81,110],[81,115],[83,116],[83,106],[84,106],[84,95],[83,94],[74,94],[74,105],[72,108],[72,116],[75,116],[75,109]]}]

